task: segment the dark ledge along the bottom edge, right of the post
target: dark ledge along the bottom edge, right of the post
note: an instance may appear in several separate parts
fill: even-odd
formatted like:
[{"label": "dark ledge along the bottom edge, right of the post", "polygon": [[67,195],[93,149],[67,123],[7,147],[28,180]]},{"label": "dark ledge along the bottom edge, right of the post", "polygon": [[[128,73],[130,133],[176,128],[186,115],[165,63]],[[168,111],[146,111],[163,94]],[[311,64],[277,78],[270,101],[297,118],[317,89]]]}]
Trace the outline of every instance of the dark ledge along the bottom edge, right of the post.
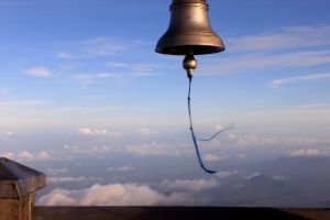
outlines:
[{"label": "dark ledge along the bottom edge, right of the post", "polygon": [[330,209],[216,207],[34,207],[33,220],[193,220],[193,219],[317,219],[329,220]]}]

